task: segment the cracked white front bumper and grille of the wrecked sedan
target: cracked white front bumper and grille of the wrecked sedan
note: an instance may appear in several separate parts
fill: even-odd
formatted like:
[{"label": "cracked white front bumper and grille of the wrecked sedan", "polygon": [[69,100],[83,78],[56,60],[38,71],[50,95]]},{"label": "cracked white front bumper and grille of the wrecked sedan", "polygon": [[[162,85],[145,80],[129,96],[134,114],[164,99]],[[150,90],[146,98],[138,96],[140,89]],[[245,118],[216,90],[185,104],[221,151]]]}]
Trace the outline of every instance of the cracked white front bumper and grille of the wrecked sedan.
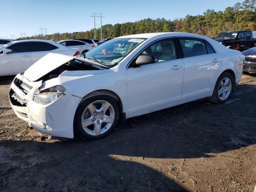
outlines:
[{"label": "cracked white front bumper and grille of the wrecked sedan", "polygon": [[10,104],[15,114],[28,122],[38,132],[55,137],[74,138],[73,121],[81,98],[67,90],[50,104],[38,104],[34,94],[42,86],[42,80],[30,82],[18,74],[10,88]]}]

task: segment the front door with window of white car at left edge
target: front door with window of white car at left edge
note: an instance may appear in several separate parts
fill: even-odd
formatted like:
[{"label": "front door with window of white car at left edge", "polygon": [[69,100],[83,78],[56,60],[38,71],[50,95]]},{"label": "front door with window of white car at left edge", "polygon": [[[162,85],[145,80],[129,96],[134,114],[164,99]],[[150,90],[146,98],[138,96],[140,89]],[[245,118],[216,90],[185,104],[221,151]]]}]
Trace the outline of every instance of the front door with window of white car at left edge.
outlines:
[{"label": "front door with window of white car at left edge", "polygon": [[0,53],[0,74],[17,74],[31,66],[31,42],[16,42],[6,48],[12,51]]}]

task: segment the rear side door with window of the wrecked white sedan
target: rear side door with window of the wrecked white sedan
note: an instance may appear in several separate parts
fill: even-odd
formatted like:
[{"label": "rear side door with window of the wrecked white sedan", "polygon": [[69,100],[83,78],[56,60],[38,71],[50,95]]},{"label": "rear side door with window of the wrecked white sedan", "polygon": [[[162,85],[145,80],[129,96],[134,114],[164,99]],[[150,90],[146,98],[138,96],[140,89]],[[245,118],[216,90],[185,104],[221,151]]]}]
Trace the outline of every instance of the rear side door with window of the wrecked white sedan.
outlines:
[{"label": "rear side door with window of the wrecked white sedan", "polygon": [[200,38],[182,37],[179,42],[184,55],[182,100],[209,93],[220,70],[222,56]]}]

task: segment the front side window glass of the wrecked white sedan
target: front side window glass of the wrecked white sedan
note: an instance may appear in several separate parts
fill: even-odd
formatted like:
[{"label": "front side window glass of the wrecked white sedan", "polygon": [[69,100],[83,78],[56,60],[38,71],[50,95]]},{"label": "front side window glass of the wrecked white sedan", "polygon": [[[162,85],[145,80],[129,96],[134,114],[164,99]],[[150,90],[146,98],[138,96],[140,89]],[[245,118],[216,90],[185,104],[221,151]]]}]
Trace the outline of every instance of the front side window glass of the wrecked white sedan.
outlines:
[{"label": "front side window glass of the wrecked white sedan", "polygon": [[157,62],[177,59],[177,52],[173,38],[163,39],[148,46],[141,54],[152,56]]}]

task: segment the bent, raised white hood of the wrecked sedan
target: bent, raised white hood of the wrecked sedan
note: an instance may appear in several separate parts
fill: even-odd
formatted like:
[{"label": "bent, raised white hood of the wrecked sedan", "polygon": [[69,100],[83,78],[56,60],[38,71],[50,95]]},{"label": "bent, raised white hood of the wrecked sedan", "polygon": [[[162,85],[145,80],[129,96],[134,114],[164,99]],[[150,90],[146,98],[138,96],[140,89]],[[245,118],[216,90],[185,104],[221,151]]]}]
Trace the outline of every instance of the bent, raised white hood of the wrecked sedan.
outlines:
[{"label": "bent, raised white hood of the wrecked sedan", "polygon": [[36,81],[42,76],[48,74],[49,72],[62,66],[63,64],[65,64],[66,62],[72,59],[86,62],[88,64],[95,66],[96,68],[107,68],[102,64],[98,64],[96,62],[92,62],[84,58],[78,58],[75,56],[68,56],[68,55],[62,55],[62,54],[56,54],[56,53],[48,53],[46,56],[42,57],[37,62],[35,62],[32,66],[30,66],[30,68],[28,68],[24,72],[23,76],[29,81]]}]

